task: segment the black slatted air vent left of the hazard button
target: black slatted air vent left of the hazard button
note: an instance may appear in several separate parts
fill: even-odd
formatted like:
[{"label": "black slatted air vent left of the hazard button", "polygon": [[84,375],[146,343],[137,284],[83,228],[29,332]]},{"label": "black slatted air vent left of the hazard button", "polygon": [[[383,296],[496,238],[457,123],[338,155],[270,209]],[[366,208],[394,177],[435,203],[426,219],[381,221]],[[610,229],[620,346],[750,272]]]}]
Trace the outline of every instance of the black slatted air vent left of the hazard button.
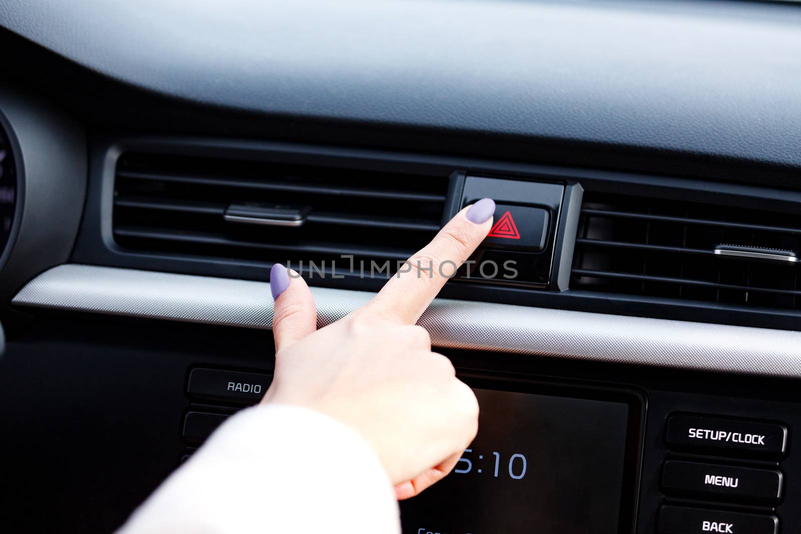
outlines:
[{"label": "black slatted air vent left of the hazard button", "polygon": [[116,171],[114,236],[135,251],[304,268],[337,260],[340,271],[350,267],[341,255],[369,265],[425,245],[447,187],[442,176],[127,154]]}]

